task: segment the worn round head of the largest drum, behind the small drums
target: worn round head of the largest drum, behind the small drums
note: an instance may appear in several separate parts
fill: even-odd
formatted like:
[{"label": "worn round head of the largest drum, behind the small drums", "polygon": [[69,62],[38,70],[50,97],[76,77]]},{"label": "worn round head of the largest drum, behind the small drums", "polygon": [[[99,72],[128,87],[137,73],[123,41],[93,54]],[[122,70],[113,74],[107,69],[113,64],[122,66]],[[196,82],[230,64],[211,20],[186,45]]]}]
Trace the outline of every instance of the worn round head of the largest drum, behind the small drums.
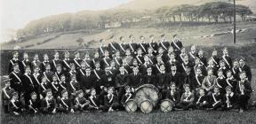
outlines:
[{"label": "worn round head of the largest drum, behind the small drums", "polygon": [[136,90],[134,99],[138,105],[141,105],[143,101],[148,100],[153,106],[156,106],[159,99],[159,91],[154,85],[144,84]]}]

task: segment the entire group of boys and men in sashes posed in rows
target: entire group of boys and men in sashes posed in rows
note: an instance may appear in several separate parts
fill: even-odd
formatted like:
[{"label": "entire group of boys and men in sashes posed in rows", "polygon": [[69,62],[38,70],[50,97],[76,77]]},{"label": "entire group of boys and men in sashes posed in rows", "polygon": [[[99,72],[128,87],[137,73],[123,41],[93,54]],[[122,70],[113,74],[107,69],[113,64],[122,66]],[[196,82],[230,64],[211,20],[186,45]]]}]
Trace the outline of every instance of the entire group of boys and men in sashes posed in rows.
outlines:
[{"label": "entire group of boys and men in sashes posed in rows", "polygon": [[[19,115],[21,112],[77,112],[101,110],[112,112],[123,110],[124,104],[134,96],[143,84],[155,85],[162,93],[161,99],[170,99],[177,109],[231,109],[239,112],[247,109],[251,97],[252,73],[244,58],[233,59],[228,49],[212,51],[212,57],[205,58],[204,50],[195,45],[187,52],[178,35],[167,42],[161,35],[155,42],[150,35],[146,43],[113,42],[104,46],[104,40],[93,58],[85,51],[80,58],[79,51],[54,51],[49,60],[43,61],[37,54],[34,60],[28,53],[13,52],[9,64],[9,80],[5,81],[2,98],[5,112]],[[160,101],[160,100],[159,100]]]}]

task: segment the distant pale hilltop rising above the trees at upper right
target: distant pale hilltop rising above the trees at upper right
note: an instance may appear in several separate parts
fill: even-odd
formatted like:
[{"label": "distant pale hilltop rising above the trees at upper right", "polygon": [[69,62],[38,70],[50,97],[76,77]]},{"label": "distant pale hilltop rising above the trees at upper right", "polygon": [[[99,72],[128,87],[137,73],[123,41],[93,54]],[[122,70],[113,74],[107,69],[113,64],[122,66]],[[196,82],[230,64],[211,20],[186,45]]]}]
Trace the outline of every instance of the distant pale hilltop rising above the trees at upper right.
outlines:
[{"label": "distant pale hilltop rising above the trees at upper right", "polygon": [[[117,6],[116,9],[131,9],[131,10],[152,10],[162,6],[176,6],[180,4],[205,4],[208,2],[228,2],[229,0],[132,0],[127,4]],[[255,0],[236,0],[236,4],[249,6],[252,12],[256,12]]]}]

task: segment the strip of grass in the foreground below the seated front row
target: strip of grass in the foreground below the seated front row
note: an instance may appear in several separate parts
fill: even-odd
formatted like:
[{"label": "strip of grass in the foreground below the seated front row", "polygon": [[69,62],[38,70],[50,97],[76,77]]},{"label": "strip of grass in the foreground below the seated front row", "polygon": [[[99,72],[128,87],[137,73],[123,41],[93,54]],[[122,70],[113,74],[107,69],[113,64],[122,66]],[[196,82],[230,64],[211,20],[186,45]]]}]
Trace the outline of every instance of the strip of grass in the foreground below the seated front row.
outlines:
[{"label": "strip of grass in the foreground below the seated front row", "polygon": [[244,113],[238,112],[208,112],[208,111],[177,111],[177,112],[151,112],[143,114],[141,112],[83,112],[75,114],[56,114],[56,115],[23,115],[13,117],[2,115],[2,123],[232,123],[232,124],[251,124],[256,123],[256,111]]}]

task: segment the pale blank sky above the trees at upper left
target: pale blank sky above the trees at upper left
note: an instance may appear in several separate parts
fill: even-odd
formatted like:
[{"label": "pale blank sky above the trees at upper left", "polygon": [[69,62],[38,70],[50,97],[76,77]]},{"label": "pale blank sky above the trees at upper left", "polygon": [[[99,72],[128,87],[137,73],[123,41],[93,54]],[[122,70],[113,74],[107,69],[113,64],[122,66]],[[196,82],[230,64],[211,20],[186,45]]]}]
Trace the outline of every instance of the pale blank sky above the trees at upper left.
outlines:
[{"label": "pale blank sky above the trees at upper left", "polygon": [[128,1],[131,0],[0,0],[0,28],[17,29],[44,16],[108,9]]}]

